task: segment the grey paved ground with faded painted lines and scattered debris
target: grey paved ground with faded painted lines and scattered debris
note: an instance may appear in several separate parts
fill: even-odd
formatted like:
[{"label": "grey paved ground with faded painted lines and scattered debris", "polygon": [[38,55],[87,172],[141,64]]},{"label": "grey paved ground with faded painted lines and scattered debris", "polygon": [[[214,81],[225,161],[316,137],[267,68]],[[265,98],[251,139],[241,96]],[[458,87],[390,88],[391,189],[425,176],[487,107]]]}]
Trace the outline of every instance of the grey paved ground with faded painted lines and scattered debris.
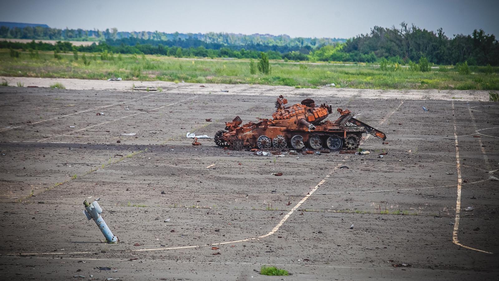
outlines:
[{"label": "grey paved ground with faded painted lines and scattered debris", "polygon": [[[1,278],[268,280],[275,265],[285,280],[497,279],[497,103],[204,86],[0,87]],[[354,154],[200,137],[268,118],[278,94],[349,109],[386,139],[363,134]]]}]

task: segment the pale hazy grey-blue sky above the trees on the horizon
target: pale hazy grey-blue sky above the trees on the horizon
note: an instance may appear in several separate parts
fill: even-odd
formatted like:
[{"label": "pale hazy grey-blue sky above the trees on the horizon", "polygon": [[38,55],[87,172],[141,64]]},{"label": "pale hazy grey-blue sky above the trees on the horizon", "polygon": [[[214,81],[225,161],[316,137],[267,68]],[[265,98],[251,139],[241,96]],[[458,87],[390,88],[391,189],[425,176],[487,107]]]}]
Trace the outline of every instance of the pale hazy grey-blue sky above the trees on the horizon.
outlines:
[{"label": "pale hazy grey-blue sky above the trees on the horizon", "polygon": [[479,28],[499,35],[499,0],[2,0],[0,21],[343,38],[405,21],[430,30],[442,27],[448,36]]}]

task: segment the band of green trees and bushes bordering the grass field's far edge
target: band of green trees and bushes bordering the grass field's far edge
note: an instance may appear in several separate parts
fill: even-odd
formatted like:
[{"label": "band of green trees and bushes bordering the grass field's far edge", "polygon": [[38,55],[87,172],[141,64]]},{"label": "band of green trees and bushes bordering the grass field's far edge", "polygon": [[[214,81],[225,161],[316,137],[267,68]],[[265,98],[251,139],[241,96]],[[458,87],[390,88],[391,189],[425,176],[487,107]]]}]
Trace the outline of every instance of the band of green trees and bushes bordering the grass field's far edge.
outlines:
[{"label": "band of green trees and bushes bordering the grass field's far edge", "polygon": [[[37,27],[33,27],[37,28]],[[1,34],[0,34],[1,36]],[[55,45],[0,41],[1,48],[50,51],[113,52],[131,54],[161,54],[177,57],[234,57],[259,58],[260,52],[268,59],[293,61],[351,61],[410,64],[422,58],[434,64],[499,65],[499,42],[493,34],[480,29],[470,34],[452,38],[417,26],[401,24],[401,28],[375,26],[369,34],[360,34],[344,43],[316,45],[265,45],[261,43],[226,45],[206,42],[193,37],[182,39],[152,39],[125,37],[101,40],[98,44],[74,46],[59,41]]]}]

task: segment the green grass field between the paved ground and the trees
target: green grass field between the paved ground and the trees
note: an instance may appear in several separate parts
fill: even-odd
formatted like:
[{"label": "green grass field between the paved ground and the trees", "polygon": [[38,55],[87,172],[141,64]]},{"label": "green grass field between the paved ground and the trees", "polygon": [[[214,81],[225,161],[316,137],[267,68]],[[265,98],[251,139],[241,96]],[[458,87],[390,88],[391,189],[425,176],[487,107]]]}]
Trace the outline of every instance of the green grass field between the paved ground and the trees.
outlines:
[{"label": "green grass field between the paved ground and the trees", "polygon": [[[175,58],[159,55],[114,55],[101,59],[99,53],[85,53],[86,65],[78,53],[51,52],[38,55],[21,52],[11,57],[0,50],[0,75],[59,77],[79,79],[163,80],[198,83],[249,83],[315,87],[335,83],[336,87],[377,89],[481,89],[499,90],[499,67],[470,66],[470,74],[460,74],[453,66],[432,68],[429,72],[400,67],[382,71],[378,65],[341,63],[295,63],[270,61],[271,73],[250,74],[250,62],[243,59]],[[487,73],[486,71],[492,71]]]}]

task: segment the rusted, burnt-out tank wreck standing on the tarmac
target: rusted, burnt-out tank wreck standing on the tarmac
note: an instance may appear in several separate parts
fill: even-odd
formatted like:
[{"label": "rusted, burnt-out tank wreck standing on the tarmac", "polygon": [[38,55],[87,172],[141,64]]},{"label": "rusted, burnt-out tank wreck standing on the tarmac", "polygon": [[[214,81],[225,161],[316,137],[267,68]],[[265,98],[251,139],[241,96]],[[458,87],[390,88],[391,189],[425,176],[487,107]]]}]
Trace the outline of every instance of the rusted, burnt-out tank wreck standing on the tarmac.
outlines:
[{"label": "rusted, burnt-out tank wreck standing on the tarmac", "polygon": [[286,104],[287,99],[280,95],[272,119],[257,118],[256,123],[242,125],[243,120],[236,116],[215,134],[215,143],[233,150],[302,149],[305,145],[311,149],[354,150],[359,147],[363,133],[386,139],[382,131],[357,120],[348,109],[338,108],[341,116],[329,121],[325,119],[333,112],[331,105],[317,105],[310,98],[291,106]]}]

